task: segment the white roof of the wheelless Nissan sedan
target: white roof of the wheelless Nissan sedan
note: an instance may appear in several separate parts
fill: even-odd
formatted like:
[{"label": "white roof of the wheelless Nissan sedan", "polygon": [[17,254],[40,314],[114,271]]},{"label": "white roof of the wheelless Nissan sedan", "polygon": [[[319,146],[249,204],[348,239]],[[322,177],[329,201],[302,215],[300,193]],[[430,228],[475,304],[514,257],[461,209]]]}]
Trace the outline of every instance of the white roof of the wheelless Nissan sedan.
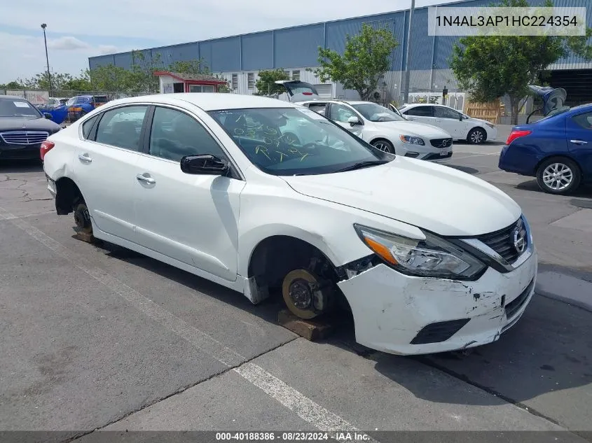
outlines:
[{"label": "white roof of the wheelless Nissan sedan", "polygon": [[225,94],[222,92],[176,92],[173,94],[152,94],[140,97],[126,97],[109,101],[109,106],[139,102],[162,104],[180,104],[185,101],[202,108],[204,111],[237,108],[297,108],[298,104],[246,94]]}]

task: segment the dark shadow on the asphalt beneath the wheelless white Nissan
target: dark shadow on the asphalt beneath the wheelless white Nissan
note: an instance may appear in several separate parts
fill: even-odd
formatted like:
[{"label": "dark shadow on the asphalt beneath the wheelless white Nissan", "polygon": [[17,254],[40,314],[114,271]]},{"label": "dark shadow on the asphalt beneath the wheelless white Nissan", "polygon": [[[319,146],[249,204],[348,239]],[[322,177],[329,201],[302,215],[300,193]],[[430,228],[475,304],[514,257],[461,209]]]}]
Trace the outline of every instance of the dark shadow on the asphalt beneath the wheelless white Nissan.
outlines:
[{"label": "dark shadow on the asphalt beneath the wheelless white Nissan", "polygon": [[[284,309],[280,294],[273,294],[255,306],[233,290],[140,253],[109,243],[97,247],[111,258],[142,267],[274,325],[277,325],[277,314]],[[376,371],[430,402],[499,405],[500,398],[524,402],[545,393],[592,384],[592,313],[542,296],[533,298],[521,321],[497,342],[466,353],[394,356],[357,344],[350,316],[343,316],[338,322],[333,319],[333,326],[333,334],[319,343],[373,360]],[[436,368],[493,395],[471,395],[468,399],[450,389],[434,388],[413,370],[408,370],[412,361]]]}]

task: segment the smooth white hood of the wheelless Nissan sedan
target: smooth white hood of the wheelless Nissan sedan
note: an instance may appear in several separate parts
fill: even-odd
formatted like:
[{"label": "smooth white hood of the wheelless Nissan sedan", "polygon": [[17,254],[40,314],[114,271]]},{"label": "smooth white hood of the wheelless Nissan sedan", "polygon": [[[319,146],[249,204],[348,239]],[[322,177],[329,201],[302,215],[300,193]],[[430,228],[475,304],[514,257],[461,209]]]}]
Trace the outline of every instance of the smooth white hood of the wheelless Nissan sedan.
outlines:
[{"label": "smooth white hood of the wheelless Nissan sedan", "polygon": [[522,212],[513,199],[480,178],[399,156],[387,164],[356,171],[282,178],[300,194],[443,236],[494,232],[514,223]]}]

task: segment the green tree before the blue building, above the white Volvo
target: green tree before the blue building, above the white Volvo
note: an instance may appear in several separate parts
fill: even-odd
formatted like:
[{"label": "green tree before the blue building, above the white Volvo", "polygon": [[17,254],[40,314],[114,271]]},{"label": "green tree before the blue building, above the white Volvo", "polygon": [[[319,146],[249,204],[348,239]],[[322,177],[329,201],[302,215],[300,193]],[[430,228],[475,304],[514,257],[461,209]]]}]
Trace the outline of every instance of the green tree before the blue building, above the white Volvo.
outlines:
[{"label": "green tree before the blue building, above the white Volvo", "polygon": [[378,87],[378,80],[390,70],[391,55],[399,43],[388,29],[375,29],[362,24],[356,36],[346,36],[345,51],[319,47],[320,67],[309,69],[322,82],[333,80],[345,89],[355,90],[362,100],[369,99]]}]

